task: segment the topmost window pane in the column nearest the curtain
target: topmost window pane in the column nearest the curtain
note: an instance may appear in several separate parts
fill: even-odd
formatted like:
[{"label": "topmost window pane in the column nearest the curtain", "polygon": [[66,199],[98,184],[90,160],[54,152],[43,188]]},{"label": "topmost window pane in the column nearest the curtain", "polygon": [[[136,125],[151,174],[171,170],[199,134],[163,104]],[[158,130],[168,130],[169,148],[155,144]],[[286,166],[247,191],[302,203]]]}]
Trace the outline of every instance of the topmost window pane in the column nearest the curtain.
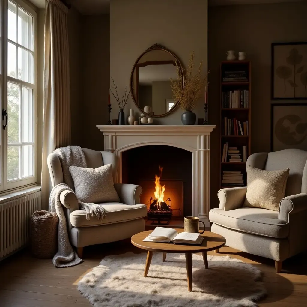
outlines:
[{"label": "topmost window pane in the column nearest the curtain", "polygon": [[33,50],[33,18],[18,8],[18,44]]}]

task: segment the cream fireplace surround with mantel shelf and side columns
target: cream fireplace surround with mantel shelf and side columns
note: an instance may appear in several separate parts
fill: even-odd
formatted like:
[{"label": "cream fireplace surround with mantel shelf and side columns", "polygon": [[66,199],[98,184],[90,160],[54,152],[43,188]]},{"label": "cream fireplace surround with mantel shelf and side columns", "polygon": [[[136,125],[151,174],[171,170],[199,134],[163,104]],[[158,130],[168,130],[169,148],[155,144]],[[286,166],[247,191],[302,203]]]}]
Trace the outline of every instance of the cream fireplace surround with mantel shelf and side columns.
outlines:
[{"label": "cream fireplace surround with mantel shelf and side columns", "polygon": [[[145,148],[147,146],[170,146],[174,149],[184,150],[184,152],[191,154],[192,168],[189,167],[190,173],[189,180],[192,182],[192,187],[186,188],[186,182],[184,183],[184,214],[183,216],[192,215],[197,216],[202,220],[206,227],[210,226],[208,213],[209,213],[209,144],[210,144],[210,133],[215,128],[215,125],[98,125],[97,128],[103,132],[104,135],[104,150],[111,153],[115,153],[118,161],[118,172],[115,182],[132,182],[137,183],[137,181],[130,181],[134,174],[127,174],[125,168],[127,163],[130,165],[131,161],[127,162],[127,156],[129,156],[130,150],[135,148]],[[127,153],[126,153],[127,152]],[[148,153],[148,152],[147,152]],[[147,154],[146,153],[146,154]],[[159,155],[161,157],[161,155]],[[163,155],[162,155],[163,156]],[[173,156],[175,161],[179,154]],[[164,157],[169,157],[169,154],[164,155]],[[190,156],[191,157],[191,156]],[[157,173],[159,165],[163,166],[163,180],[176,181],[180,177],[168,177],[169,165],[164,163],[157,163],[154,168],[153,173],[148,172],[148,165],[152,164],[150,158],[138,156],[142,158],[142,163],[136,161],[136,157],[131,157],[134,159],[135,169],[140,174],[140,169],[142,169],[142,174],[144,174],[143,179],[153,180],[154,175]],[[126,160],[125,160],[126,159]],[[172,162],[172,160],[170,160]],[[128,165],[128,166],[129,166]],[[130,168],[130,166],[129,166]],[[171,168],[173,175],[185,169],[186,165],[183,164],[181,167]],[[151,167],[150,167],[151,169]],[[192,169],[192,170],[191,170]],[[146,175],[146,176],[145,176]],[[135,178],[134,178],[135,179]],[[140,178],[138,178],[140,179]],[[190,196],[188,196],[190,195]],[[192,196],[191,196],[192,195]],[[186,205],[186,200],[190,204]],[[173,201],[173,200],[172,200]],[[187,209],[188,208],[188,209]],[[187,213],[189,210],[190,213]],[[192,211],[192,214],[191,214]],[[172,217],[173,218],[173,217]]]}]

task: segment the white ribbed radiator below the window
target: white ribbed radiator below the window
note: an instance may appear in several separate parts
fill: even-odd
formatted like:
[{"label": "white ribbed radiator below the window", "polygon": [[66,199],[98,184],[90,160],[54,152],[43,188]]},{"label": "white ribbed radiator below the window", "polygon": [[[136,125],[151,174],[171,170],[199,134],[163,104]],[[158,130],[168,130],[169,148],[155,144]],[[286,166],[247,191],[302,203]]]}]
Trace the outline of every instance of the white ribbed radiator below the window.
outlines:
[{"label": "white ribbed radiator below the window", "polygon": [[0,204],[0,260],[29,242],[30,218],[41,209],[41,191]]}]

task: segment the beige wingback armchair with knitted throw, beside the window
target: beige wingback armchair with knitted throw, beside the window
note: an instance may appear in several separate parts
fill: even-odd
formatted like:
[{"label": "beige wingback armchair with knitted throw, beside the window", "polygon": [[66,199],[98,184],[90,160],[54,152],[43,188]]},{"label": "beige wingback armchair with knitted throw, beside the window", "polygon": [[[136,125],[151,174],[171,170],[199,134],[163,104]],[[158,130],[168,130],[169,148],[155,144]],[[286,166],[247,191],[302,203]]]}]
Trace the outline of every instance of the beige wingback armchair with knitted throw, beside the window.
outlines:
[{"label": "beige wingback armchair with knitted throw, beside the window", "polygon": [[[111,163],[113,180],[117,173],[117,160],[113,153],[82,149],[86,158],[87,167],[97,168]],[[48,167],[52,186],[63,183],[63,171],[57,153],[48,156]],[[86,219],[84,210],[79,210],[76,194],[63,191],[60,202],[64,207],[70,241],[77,247],[77,252],[82,257],[83,247],[127,239],[134,234],[144,231],[143,217],[147,215],[147,207],[140,203],[142,188],[139,185],[114,184],[119,195],[119,203],[103,203],[107,211],[107,219],[98,220],[95,217]]]}]

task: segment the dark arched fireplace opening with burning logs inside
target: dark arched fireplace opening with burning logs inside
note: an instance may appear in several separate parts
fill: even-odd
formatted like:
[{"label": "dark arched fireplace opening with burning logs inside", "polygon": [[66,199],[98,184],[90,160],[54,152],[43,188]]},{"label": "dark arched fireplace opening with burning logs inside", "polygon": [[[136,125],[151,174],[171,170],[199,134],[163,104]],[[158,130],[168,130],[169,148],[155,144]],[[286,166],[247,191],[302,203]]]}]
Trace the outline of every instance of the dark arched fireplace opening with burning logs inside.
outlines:
[{"label": "dark arched fireplace opening with burning logs inside", "polygon": [[122,153],[122,182],[140,185],[148,220],[168,224],[192,215],[192,153],[148,145]]}]

